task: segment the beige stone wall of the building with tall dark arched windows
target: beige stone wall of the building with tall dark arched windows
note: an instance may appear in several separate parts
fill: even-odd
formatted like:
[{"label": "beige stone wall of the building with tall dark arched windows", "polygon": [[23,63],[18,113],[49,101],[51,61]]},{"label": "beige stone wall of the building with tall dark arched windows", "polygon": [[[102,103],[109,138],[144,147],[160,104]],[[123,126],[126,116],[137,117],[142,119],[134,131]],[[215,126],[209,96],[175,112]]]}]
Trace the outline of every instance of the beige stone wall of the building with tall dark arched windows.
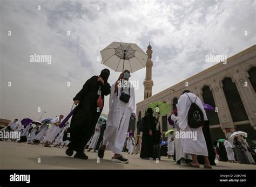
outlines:
[{"label": "beige stone wall of the building with tall dark arched windows", "polygon": [[[226,134],[225,128],[230,128],[230,130],[234,132],[235,125],[250,123],[256,130],[256,94],[252,88],[250,80],[248,80],[249,75],[247,73],[252,66],[256,66],[256,45],[228,58],[226,64],[218,63],[204,71],[201,71],[199,74],[187,78],[186,80],[137,103],[137,115],[138,112],[141,111],[142,116],[144,116],[147,104],[157,100],[164,101],[172,105],[172,99],[175,97],[179,98],[183,90],[186,89],[194,92],[203,101],[202,88],[205,85],[208,85],[212,91],[215,105],[218,107],[218,117],[220,121],[219,125],[210,126],[211,128],[221,127],[223,132]],[[233,123],[222,88],[223,85],[221,83],[225,77],[231,77],[232,81],[237,86],[248,116],[247,121]],[[245,87],[245,82],[248,83],[247,87]],[[188,87],[186,87],[186,83],[188,83]],[[171,91],[172,89],[175,91]],[[170,114],[171,112],[167,114],[167,116],[170,116]]]}]

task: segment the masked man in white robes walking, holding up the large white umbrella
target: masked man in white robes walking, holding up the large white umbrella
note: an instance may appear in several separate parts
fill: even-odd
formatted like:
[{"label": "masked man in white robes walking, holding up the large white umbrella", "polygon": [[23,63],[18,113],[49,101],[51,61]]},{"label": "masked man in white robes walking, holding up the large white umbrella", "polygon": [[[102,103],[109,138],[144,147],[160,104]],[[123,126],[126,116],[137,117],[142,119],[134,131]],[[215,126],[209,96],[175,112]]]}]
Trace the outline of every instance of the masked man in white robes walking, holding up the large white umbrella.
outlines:
[{"label": "masked man in white robes walking, holding up the large white umbrella", "polygon": [[[111,160],[112,162],[129,162],[121,155],[126,139],[126,133],[129,128],[131,113],[134,113],[135,109],[134,88],[128,81],[129,77],[130,71],[124,70],[124,72],[120,74],[117,82],[115,82],[111,87],[109,118],[107,121],[106,130],[104,132],[103,142],[100,144],[98,150],[98,156],[103,158],[106,145],[109,143],[107,149],[114,153]],[[118,81],[122,82],[123,80],[124,84],[118,86],[118,83],[120,83]],[[120,100],[120,94],[122,92],[130,95],[128,103]]]}]

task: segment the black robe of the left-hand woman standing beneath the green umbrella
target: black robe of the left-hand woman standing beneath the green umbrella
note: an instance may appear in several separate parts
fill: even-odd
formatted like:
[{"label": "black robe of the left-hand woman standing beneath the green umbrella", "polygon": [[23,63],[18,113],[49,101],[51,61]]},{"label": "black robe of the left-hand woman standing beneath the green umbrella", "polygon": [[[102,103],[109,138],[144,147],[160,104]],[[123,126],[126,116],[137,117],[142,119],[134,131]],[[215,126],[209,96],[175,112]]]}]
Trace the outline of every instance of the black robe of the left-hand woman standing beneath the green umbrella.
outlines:
[{"label": "black robe of the left-hand woman standing beneath the green umbrella", "polygon": [[149,135],[149,131],[153,130],[154,117],[151,113],[146,113],[144,117],[144,129],[142,134],[142,149],[140,150],[140,156],[142,159],[146,157],[153,157],[153,139]]}]

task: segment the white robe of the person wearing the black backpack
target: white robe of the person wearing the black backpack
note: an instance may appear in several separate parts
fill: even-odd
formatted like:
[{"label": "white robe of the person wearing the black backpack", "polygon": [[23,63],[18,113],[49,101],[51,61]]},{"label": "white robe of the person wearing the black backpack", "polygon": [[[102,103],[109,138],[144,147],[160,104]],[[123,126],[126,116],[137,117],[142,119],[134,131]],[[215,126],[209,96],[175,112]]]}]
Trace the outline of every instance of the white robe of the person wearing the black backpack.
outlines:
[{"label": "white robe of the person wearing the black backpack", "polygon": [[[188,96],[190,98],[188,98]],[[180,96],[178,100],[177,110],[178,110],[178,117],[179,117],[179,128],[184,131],[186,134],[187,133],[193,133],[196,135],[196,140],[193,140],[193,138],[183,138],[181,140],[182,146],[183,146],[183,151],[184,153],[188,154],[195,154],[195,155],[202,155],[202,156],[208,156],[208,151],[206,147],[206,141],[205,137],[203,134],[203,130],[201,127],[199,128],[190,128],[187,124],[187,116],[188,116],[188,110],[190,109],[191,106],[191,101],[194,102],[196,100],[196,95],[193,93],[184,93],[183,95]],[[198,97],[196,100],[197,106],[200,108],[200,110],[204,114],[204,120],[208,120],[204,106]]]}]

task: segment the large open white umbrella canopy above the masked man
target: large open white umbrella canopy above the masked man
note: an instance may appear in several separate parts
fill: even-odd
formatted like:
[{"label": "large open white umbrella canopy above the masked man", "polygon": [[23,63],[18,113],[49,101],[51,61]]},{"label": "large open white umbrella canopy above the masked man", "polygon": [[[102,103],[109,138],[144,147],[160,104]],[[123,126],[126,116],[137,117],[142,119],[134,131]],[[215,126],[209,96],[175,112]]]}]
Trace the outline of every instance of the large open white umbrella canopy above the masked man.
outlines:
[{"label": "large open white umbrella canopy above the masked man", "polygon": [[127,69],[133,73],[146,66],[147,54],[137,44],[114,41],[100,51],[100,55],[102,64],[116,72]]}]

